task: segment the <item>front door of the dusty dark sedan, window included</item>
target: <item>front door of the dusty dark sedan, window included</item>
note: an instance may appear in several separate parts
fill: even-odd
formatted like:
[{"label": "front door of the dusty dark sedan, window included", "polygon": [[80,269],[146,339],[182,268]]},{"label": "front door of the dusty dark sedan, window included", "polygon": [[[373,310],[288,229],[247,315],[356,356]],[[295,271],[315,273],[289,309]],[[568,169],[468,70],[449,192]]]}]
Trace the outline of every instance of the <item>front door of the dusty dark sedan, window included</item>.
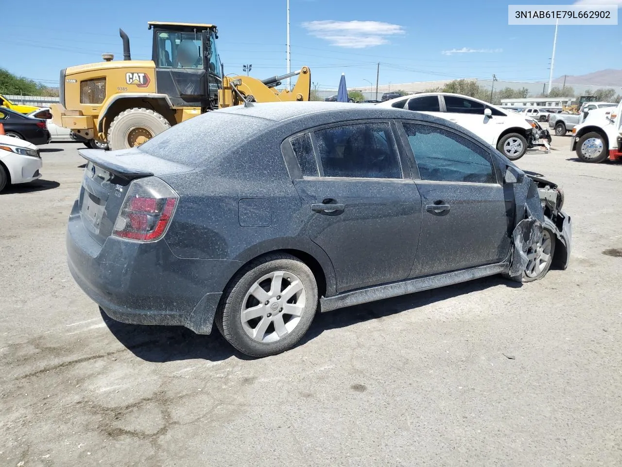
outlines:
[{"label": "front door of the dusty dark sedan, window included", "polygon": [[422,201],[411,277],[502,262],[514,221],[488,149],[440,125],[404,121],[402,128]]}]

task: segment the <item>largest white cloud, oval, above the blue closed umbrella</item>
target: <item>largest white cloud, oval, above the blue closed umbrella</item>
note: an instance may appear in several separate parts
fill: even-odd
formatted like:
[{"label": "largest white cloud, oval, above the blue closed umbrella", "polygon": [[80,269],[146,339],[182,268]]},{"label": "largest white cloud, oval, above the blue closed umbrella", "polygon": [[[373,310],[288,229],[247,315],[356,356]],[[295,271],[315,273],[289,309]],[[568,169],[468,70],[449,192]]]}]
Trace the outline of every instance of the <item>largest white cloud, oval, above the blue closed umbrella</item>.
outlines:
[{"label": "largest white cloud, oval, above the blue closed umbrella", "polygon": [[330,45],[347,49],[365,49],[389,44],[388,36],[404,34],[398,24],[381,21],[307,21],[302,23],[309,34],[328,40]]}]

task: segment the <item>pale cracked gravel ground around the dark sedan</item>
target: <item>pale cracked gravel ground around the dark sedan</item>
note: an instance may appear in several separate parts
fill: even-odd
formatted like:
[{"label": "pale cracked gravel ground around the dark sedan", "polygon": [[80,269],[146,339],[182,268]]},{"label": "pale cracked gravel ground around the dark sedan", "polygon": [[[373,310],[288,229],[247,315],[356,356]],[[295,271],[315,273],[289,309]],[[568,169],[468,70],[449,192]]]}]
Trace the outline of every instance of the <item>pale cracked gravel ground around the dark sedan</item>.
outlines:
[{"label": "pale cracked gravel ground around the dark sedan", "polygon": [[0,195],[2,466],[620,466],[622,164],[554,136],[572,261],[317,316],[247,359],[216,332],[101,316],[65,263],[83,160]]}]

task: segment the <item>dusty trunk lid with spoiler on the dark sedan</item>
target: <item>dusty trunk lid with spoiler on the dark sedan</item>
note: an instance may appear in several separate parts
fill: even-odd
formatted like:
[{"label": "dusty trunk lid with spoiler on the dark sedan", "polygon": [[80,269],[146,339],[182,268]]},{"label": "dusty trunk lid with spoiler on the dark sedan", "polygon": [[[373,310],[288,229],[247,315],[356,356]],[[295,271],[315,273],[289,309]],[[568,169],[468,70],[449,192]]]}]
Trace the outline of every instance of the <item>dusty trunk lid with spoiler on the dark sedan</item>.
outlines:
[{"label": "dusty trunk lid with spoiler on the dark sedan", "polygon": [[78,207],[86,230],[103,245],[114,228],[132,180],[192,171],[194,167],[165,161],[137,148],[119,151],[80,149],[86,159]]}]

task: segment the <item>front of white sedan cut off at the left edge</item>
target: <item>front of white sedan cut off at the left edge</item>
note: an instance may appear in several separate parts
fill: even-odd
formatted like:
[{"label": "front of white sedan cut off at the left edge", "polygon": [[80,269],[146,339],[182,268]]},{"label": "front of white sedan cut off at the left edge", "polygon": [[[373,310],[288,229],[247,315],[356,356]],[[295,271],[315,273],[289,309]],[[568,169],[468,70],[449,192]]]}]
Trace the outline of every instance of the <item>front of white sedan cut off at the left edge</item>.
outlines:
[{"label": "front of white sedan cut off at the left edge", "polygon": [[42,166],[37,146],[24,139],[0,134],[0,191],[9,185],[40,178]]}]

